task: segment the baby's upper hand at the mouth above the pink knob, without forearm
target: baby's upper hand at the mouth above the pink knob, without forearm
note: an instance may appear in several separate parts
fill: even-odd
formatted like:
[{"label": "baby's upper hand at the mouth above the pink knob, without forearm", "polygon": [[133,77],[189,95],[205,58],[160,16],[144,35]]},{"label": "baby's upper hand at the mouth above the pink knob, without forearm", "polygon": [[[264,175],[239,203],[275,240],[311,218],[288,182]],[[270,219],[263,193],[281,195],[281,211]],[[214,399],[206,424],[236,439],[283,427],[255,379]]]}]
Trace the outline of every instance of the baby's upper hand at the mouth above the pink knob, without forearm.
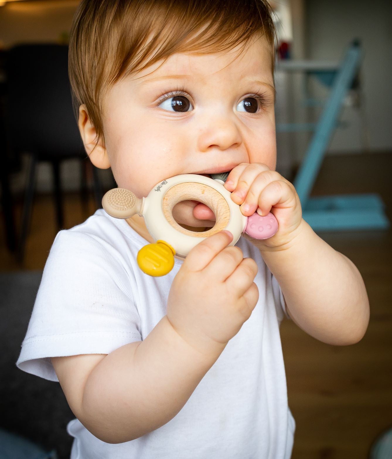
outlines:
[{"label": "baby's upper hand at the mouth above the pink knob, without forearm", "polygon": [[241,212],[249,217],[271,212],[278,220],[279,228],[274,236],[260,241],[257,246],[278,248],[290,243],[302,221],[302,209],[294,186],[278,172],[265,164],[241,163],[227,177],[224,184],[232,192],[231,199],[241,205]]}]

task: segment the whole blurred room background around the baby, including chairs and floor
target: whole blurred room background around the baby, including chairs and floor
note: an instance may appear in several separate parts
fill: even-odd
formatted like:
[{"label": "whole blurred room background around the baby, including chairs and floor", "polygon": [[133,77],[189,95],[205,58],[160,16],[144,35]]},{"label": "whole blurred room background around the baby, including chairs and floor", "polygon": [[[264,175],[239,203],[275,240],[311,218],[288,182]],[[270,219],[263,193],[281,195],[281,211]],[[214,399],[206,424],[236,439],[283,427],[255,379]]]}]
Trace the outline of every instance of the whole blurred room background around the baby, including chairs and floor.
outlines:
[{"label": "whole blurred room background around the baby, including chairs and floor", "polygon": [[[271,4],[277,169],[305,220],[356,264],[371,309],[364,339],[348,347],[282,323],[292,457],[392,458],[392,2]],[[59,384],[15,362],[57,231],[83,222],[115,186],[86,159],[73,116],[67,42],[77,5],[0,0],[0,459],[65,459],[72,443]],[[11,443],[20,453],[6,456]]]}]

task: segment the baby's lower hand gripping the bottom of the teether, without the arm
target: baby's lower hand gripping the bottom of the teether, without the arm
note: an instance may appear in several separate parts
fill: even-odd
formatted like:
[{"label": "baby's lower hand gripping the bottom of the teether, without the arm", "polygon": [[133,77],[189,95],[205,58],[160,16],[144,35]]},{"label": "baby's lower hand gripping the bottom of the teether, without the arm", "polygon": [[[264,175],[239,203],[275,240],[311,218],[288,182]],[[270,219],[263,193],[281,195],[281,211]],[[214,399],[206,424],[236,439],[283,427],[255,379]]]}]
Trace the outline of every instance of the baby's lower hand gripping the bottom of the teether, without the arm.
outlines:
[{"label": "baby's lower hand gripping the bottom of the teether, without the arm", "polygon": [[221,353],[258,301],[257,264],[220,231],[195,246],[172,283],[167,316],[180,336],[203,354]]}]

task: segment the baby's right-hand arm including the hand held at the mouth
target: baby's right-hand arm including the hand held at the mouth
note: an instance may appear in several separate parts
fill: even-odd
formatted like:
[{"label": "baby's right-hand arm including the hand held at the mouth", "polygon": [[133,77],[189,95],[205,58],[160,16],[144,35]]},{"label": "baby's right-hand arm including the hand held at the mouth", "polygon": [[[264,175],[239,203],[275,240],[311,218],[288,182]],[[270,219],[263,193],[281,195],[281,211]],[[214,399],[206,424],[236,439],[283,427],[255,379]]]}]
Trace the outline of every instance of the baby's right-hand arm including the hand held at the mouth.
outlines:
[{"label": "baby's right-hand arm including the hand held at the mouth", "polygon": [[227,179],[225,187],[244,215],[256,210],[267,215],[272,207],[277,233],[252,243],[278,280],[293,321],[328,344],[358,342],[369,323],[364,281],[355,265],[303,220],[294,186],[259,163],[242,163]]}]

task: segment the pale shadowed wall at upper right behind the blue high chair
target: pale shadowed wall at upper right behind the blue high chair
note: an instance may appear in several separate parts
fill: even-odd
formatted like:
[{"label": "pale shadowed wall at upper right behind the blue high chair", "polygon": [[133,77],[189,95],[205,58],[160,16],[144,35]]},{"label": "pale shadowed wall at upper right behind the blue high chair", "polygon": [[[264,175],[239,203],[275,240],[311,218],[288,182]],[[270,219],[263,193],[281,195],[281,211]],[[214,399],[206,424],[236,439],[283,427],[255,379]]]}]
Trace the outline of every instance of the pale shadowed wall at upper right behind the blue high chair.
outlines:
[{"label": "pale shadowed wall at upper right behind the blue high chair", "polygon": [[330,151],[392,151],[392,1],[306,0],[305,15],[309,59],[340,60],[355,38],[364,49],[363,111],[344,109]]}]

